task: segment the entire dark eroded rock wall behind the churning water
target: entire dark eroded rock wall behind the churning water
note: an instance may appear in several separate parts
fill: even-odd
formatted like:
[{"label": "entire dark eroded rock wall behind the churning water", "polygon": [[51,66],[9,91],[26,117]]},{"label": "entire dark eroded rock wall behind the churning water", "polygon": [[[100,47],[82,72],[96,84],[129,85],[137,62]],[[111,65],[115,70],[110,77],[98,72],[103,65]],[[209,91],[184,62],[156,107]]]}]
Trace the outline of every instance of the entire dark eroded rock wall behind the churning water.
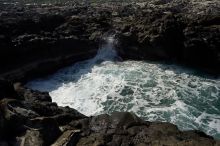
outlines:
[{"label": "entire dark eroded rock wall behind the churning water", "polygon": [[88,59],[109,30],[117,33],[123,59],[174,61],[219,74],[219,5],[218,0],[0,4],[0,76],[27,81]]}]

